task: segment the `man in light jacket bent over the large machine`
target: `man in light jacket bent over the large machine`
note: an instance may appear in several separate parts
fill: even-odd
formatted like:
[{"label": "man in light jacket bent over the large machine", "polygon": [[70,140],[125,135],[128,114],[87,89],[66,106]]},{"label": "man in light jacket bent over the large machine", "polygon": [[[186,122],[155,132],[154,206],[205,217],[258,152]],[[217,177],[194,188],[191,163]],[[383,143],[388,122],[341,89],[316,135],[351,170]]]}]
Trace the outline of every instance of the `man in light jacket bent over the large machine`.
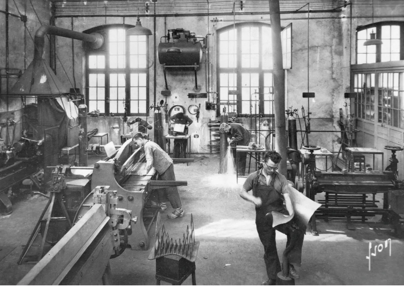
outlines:
[{"label": "man in light jacket bent over the large machine", "polygon": [[[159,180],[175,181],[173,160],[157,143],[145,139],[140,132],[135,134],[133,141],[137,146],[143,147],[145,150],[146,169],[145,172],[142,173],[143,175],[147,175],[151,167],[154,167],[158,173]],[[174,208],[174,211],[168,214],[168,218],[174,219],[184,216],[185,212],[182,209],[181,198],[179,197],[177,187],[159,189],[158,194],[159,207],[161,210],[166,210],[167,200]]]}]

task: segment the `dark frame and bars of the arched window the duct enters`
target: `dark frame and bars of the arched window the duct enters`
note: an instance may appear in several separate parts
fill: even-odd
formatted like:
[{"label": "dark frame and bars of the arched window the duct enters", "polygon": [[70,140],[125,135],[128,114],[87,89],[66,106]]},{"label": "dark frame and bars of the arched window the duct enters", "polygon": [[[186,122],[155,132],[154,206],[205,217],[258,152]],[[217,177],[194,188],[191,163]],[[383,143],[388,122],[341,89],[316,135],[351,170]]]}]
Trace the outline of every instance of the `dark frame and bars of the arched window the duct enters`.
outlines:
[{"label": "dark frame and bars of the arched window the duct enters", "polygon": [[[109,96],[109,76],[110,74],[124,74],[125,75],[125,104],[126,104],[126,116],[147,116],[148,108],[149,108],[149,38],[148,35],[146,37],[146,67],[145,68],[130,68],[130,42],[127,41],[127,37],[125,35],[125,68],[110,68],[109,67],[109,29],[125,29],[126,31],[135,25],[129,24],[110,24],[110,25],[100,25],[97,27],[93,27],[91,29],[87,29],[83,31],[83,33],[100,33],[104,38],[104,43],[99,49],[91,49],[86,43],[83,43],[85,50],[85,96],[86,96],[86,106],[89,108],[89,74],[96,73],[105,75],[105,112],[100,112],[100,114],[109,115],[113,113],[115,116],[124,116],[124,113],[112,112],[110,110],[110,96]],[[89,68],[89,56],[90,55],[103,55],[105,56],[105,68],[104,69],[90,69]],[[130,108],[130,75],[131,74],[146,74],[146,108],[143,113],[133,113],[133,108]],[[119,99],[118,99],[119,102]]]}]

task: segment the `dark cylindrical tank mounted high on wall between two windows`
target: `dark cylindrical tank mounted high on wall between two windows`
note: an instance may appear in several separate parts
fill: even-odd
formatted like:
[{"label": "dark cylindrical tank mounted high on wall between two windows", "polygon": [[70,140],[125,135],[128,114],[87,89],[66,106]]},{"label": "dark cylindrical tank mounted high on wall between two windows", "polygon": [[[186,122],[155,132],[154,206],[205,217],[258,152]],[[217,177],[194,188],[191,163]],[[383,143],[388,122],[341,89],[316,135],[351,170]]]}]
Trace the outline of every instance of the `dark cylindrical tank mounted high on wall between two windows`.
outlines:
[{"label": "dark cylindrical tank mounted high on wall between two windows", "polygon": [[[173,46],[181,50],[167,52]],[[161,42],[158,45],[158,60],[166,66],[193,66],[199,65],[202,60],[202,44],[200,42]]]}]

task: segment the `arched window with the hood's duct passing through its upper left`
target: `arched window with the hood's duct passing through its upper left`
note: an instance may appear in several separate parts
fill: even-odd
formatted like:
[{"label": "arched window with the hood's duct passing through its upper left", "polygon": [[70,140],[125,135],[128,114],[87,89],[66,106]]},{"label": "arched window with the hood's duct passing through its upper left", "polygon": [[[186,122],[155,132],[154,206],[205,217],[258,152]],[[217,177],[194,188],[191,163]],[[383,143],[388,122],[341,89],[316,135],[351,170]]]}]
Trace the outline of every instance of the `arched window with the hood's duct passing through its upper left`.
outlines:
[{"label": "arched window with the hood's duct passing through its upper left", "polygon": [[86,47],[86,102],[88,111],[101,114],[146,115],[149,107],[149,44],[147,35],[131,35],[133,25],[102,25],[84,31],[101,33],[104,44]]}]

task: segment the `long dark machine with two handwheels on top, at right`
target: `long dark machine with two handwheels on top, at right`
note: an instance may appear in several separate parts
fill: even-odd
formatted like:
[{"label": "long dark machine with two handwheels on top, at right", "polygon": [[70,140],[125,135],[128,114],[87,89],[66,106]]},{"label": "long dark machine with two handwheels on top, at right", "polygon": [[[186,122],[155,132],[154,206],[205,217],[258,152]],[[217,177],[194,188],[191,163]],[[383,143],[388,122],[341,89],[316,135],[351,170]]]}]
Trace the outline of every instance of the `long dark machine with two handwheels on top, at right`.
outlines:
[{"label": "long dark machine with two handwheels on top, at right", "polygon": [[[315,150],[320,147],[303,146],[303,149],[310,152],[308,157],[303,157],[306,165],[305,189],[306,196],[315,200],[317,193],[325,192],[325,200],[317,214],[326,221],[330,217],[346,218],[347,228],[354,230],[351,224],[351,217],[360,217],[362,222],[368,216],[382,215],[384,223],[391,223],[396,231],[399,227],[400,216],[389,209],[388,191],[396,189],[397,163],[395,152],[403,150],[399,147],[386,146],[386,150],[392,151],[389,159],[390,165],[382,173],[380,171],[368,172],[324,172],[316,171]],[[384,193],[383,208],[378,208],[375,200],[376,193]],[[367,199],[367,194],[372,194],[372,200]],[[311,233],[318,235],[316,227],[316,214],[311,218]]]}]

